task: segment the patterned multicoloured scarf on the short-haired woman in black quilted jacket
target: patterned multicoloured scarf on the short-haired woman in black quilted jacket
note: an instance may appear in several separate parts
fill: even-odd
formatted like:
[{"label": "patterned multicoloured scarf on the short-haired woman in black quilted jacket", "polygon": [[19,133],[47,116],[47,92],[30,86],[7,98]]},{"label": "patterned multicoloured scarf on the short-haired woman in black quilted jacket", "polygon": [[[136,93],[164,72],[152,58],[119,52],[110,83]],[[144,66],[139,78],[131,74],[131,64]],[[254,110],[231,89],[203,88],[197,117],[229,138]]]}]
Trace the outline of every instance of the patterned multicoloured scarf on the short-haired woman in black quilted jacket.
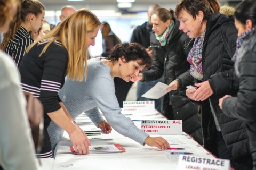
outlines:
[{"label": "patterned multicoloured scarf on the short-haired woman in black quilted jacket", "polygon": [[203,79],[202,52],[205,30],[201,37],[196,37],[193,47],[188,53],[187,61],[190,63],[189,73],[197,80]]}]

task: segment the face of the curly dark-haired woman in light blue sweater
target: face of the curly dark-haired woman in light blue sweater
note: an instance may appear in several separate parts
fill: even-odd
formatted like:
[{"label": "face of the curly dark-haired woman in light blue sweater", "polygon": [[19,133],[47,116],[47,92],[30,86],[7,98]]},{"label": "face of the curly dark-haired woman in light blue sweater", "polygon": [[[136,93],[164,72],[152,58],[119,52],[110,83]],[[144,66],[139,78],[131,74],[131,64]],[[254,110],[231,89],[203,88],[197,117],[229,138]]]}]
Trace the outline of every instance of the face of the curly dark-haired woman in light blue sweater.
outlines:
[{"label": "face of the curly dark-haired woman in light blue sweater", "polygon": [[141,62],[141,59],[139,59],[125,63],[124,57],[119,58],[119,63],[121,64],[121,66],[119,66],[119,75],[121,75],[120,78],[122,78],[126,82],[129,82],[132,78],[138,77],[140,71],[142,71],[146,66],[140,65],[139,63]]}]

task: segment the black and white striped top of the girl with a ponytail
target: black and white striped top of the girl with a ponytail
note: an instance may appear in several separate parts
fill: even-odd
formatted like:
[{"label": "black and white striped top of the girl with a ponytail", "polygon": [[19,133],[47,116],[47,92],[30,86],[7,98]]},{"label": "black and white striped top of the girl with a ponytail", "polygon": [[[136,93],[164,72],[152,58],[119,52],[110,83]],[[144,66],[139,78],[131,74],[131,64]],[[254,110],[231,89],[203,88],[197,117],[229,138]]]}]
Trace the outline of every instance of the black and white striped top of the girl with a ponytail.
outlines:
[{"label": "black and white striped top of the girl with a ponytail", "polygon": [[34,40],[30,38],[28,31],[24,27],[21,27],[15,33],[14,39],[9,41],[5,49],[5,53],[12,56],[13,60],[19,67],[26,48],[33,42]]}]

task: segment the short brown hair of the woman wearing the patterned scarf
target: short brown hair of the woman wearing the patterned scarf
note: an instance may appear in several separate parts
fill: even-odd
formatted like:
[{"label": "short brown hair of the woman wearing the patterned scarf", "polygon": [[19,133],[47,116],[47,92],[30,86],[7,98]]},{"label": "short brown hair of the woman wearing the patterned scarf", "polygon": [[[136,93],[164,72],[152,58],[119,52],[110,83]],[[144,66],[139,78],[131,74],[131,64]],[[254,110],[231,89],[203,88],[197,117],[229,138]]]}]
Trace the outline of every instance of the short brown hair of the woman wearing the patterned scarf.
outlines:
[{"label": "short brown hair of the woman wearing the patterned scarf", "polygon": [[185,10],[190,15],[192,15],[194,19],[196,19],[196,15],[198,14],[198,12],[202,11],[204,13],[203,20],[207,20],[208,16],[218,12],[217,3],[218,0],[181,0],[176,6],[175,15],[179,19],[179,14],[181,10]]}]

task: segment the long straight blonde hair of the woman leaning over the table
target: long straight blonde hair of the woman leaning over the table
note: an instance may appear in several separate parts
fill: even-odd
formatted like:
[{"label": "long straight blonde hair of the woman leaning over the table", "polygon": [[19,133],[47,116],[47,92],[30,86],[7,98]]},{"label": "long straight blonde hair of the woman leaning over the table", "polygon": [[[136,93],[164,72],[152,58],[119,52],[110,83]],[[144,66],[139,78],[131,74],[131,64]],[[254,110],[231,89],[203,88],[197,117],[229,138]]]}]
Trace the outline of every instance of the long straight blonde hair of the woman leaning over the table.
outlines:
[{"label": "long straight blonde hair of the woman leaning over the table", "polygon": [[[100,26],[100,21],[91,11],[81,9],[53,28],[46,36],[31,44],[26,52],[42,39],[50,39],[39,56],[46,52],[54,41],[60,41],[68,51],[67,77],[71,80],[82,81],[87,78],[87,33],[93,32]],[[58,45],[58,43],[55,43]]]}]

